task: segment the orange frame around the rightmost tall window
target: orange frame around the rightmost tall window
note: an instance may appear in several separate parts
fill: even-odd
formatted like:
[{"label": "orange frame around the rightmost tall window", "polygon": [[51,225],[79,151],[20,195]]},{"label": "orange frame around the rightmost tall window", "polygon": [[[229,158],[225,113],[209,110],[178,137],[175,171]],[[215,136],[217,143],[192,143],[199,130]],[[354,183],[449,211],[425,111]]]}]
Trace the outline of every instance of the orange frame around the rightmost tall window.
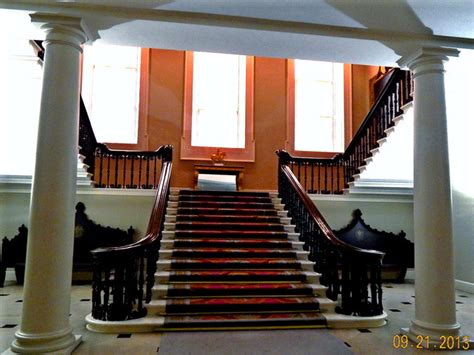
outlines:
[{"label": "orange frame around the rightmost tall window", "polygon": [[[352,132],[352,67],[344,64],[344,148],[351,140]],[[286,61],[286,142],[285,149],[300,157],[332,158],[340,152],[307,151],[295,149],[295,60]]]}]

